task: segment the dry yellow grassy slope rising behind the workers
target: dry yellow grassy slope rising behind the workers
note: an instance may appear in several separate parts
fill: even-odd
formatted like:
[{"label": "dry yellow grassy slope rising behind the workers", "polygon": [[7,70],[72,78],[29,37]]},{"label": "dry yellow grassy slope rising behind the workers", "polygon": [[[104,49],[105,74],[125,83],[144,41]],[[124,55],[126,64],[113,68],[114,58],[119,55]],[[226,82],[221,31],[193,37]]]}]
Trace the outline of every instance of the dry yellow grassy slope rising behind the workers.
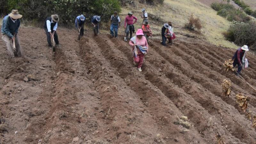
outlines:
[{"label": "dry yellow grassy slope rising behind the workers", "polygon": [[[139,18],[139,23],[142,19],[140,18],[141,8],[143,5],[137,4],[134,15]],[[214,11],[209,6],[206,6],[196,0],[165,0],[163,6],[148,6],[146,7],[148,13],[154,15],[159,15],[161,18],[168,22],[172,21],[174,26],[174,32],[177,33],[177,36],[182,37],[186,33],[191,34],[188,30],[184,29],[184,24],[187,23],[188,17],[190,14],[194,14],[196,17],[199,17],[203,23],[203,37],[212,44],[222,45],[227,47],[236,47],[235,44],[232,44],[225,40],[224,36],[221,34],[223,31],[228,29],[230,23],[228,20],[216,15]],[[122,9],[120,17],[124,20],[125,15],[130,11],[127,7]],[[162,25],[151,24],[154,34],[161,32]],[[139,28],[137,24],[135,28]],[[123,29],[122,29],[123,30]],[[181,34],[181,35],[179,35]],[[185,37],[184,37],[185,38]]]}]

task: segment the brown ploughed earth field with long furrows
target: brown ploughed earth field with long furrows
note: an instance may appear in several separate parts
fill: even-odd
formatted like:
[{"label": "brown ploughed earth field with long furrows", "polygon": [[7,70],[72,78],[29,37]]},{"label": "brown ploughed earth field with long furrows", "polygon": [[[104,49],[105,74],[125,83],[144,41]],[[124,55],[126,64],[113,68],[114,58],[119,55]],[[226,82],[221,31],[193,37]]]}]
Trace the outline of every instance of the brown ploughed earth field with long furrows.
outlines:
[{"label": "brown ploughed earth field with long furrows", "polygon": [[[235,49],[195,38],[164,47],[150,40],[142,72],[123,36],[80,41],[74,29],[58,28],[56,53],[40,28],[20,28],[24,58],[8,59],[0,40],[1,144],[253,144],[252,122],[236,103],[235,91],[256,111],[256,94],[222,64]],[[244,79],[256,85],[256,60]],[[29,81],[25,82],[24,77]],[[221,83],[232,81],[230,98]]]}]

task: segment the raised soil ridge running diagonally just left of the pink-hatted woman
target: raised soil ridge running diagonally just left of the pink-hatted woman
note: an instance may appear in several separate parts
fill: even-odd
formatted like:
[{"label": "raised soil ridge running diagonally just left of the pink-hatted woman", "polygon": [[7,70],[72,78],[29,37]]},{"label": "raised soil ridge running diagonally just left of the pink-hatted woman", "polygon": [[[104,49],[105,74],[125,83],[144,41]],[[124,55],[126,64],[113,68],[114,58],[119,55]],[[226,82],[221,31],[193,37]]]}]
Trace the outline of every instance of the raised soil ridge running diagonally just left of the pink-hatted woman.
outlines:
[{"label": "raised soil ridge running diagonally just left of the pink-hatted woman", "polygon": [[[164,135],[169,137],[169,139],[170,137],[173,137],[171,135],[178,135],[178,137],[182,136],[182,134],[179,133],[181,129],[176,129],[177,126],[173,124],[173,121],[169,121],[172,118],[177,119],[178,116],[182,116],[180,110],[178,110],[164,94],[161,92],[159,93],[158,89],[154,90],[155,86],[146,80],[136,68],[132,68],[131,62],[123,60],[125,57],[124,53],[128,54],[127,52],[121,52],[120,48],[116,48],[115,44],[111,43],[109,39],[103,38],[103,42],[98,39],[96,39],[96,41],[99,43],[103,54],[108,58],[108,60],[110,60],[111,65],[118,68],[117,71],[121,74],[121,77],[126,80],[129,79],[129,86],[132,89],[135,89],[135,92],[138,94],[140,99],[148,102],[149,109],[152,111],[152,114],[154,117],[158,117],[156,121],[157,124],[159,124],[159,127],[161,127],[161,130],[164,132]],[[129,54],[130,53],[131,51]],[[129,57],[127,58],[129,59]],[[169,109],[168,107],[171,107],[172,109]],[[175,111],[176,115],[173,113],[173,111]],[[170,131],[170,128],[172,128],[172,131]],[[190,129],[190,131],[197,133],[194,128]],[[198,141],[201,138],[196,137],[196,139],[196,141]],[[171,140],[173,140],[173,138],[171,138]],[[184,141],[187,143],[191,141],[191,138],[186,137]]]}]

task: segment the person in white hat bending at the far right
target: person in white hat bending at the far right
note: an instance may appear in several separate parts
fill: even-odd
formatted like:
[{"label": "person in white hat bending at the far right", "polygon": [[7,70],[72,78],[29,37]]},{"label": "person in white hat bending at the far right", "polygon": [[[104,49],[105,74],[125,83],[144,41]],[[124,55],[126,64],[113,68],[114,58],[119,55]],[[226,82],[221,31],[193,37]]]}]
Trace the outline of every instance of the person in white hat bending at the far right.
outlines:
[{"label": "person in white hat bending at the far right", "polygon": [[[241,70],[243,67],[242,64],[242,59],[245,55],[245,51],[249,51],[248,46],[244,45],[241,48],[238,48],[234,54],[234,56],[232,57],[232,60],[234,60],[233,62],[233,66],[235,67],[236,65],[238,66],[237,69],[237,73],[240,75],[241,74]],[[237,76],[239,76],[238,74],[236,74]]]}]

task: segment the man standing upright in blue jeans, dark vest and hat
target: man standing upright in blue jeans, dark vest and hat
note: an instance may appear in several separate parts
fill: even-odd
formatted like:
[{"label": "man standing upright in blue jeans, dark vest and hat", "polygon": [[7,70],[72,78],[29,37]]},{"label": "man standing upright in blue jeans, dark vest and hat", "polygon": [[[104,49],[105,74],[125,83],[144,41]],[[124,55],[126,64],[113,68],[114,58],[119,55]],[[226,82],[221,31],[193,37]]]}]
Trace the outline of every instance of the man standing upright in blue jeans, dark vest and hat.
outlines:
[{"label": "man standing upright in blue jeans, dark vest and hat", "polygon": [[118,32],[118,28],[120,27],[121,20],[120,20],[120,17],[117,15],[116,11],[114,12],[114,15],[111,16],[110,21],[111,21],[111,26],[110,26],[111,37],[114,37],[114,31],[115,31],[115,37],[117,38],[117,32]]}]

